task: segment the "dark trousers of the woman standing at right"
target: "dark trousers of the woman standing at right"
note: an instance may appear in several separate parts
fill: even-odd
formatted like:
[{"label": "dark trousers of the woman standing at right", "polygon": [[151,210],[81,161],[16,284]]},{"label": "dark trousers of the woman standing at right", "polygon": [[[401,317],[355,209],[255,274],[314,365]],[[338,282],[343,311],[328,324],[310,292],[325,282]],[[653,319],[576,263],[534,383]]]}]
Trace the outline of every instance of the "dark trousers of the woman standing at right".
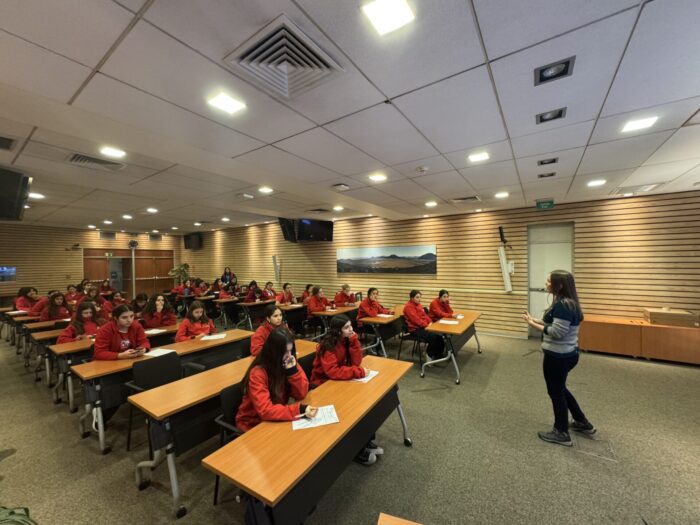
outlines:
[{"label": "dark trousers of the woman standing at right", "polygon": [[542,371],[554,409],[554,428],[559,432],[569,431],[569,412],[575,421],[588,422],[576,398],[566,388],[566,377],[578,364],[578,357],[578,352],[571,357],[552,357],[546,352],[544,354]]}]

